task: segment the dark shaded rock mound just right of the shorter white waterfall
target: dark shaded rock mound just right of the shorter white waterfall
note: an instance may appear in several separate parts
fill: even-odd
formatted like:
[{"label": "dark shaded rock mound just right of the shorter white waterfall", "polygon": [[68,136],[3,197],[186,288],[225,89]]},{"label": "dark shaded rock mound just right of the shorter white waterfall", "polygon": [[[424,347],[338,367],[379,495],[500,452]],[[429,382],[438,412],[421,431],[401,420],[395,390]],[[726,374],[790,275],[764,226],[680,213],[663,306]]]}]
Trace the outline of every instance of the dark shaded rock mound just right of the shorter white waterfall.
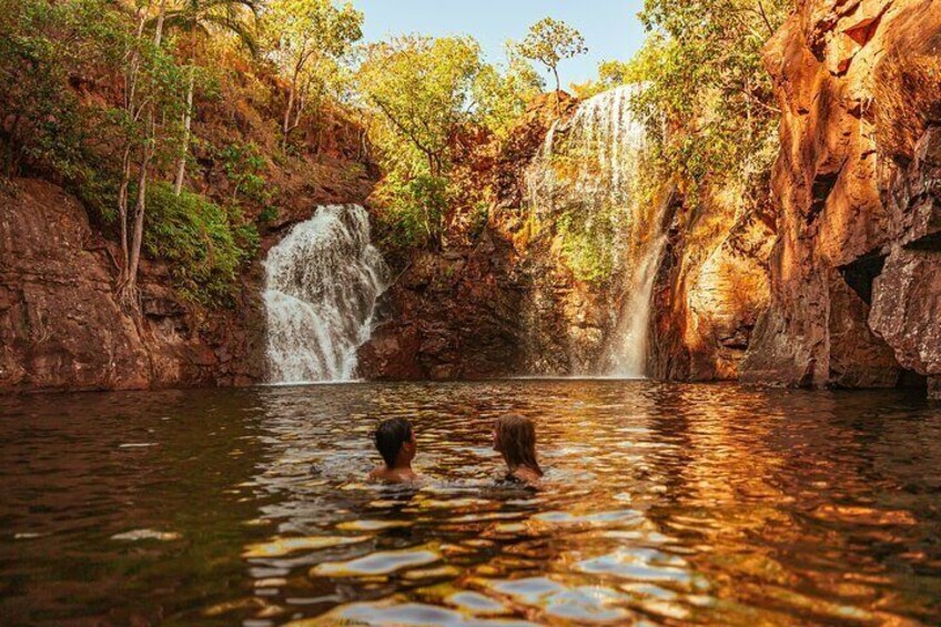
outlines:
[{"label": "dark shaded rock mound just right of the shorter white waterfall", "polygon": [[360,375],[378,380],[506,376],[522,366],[524,287],[512,245],[422,253],[386,294]]}]

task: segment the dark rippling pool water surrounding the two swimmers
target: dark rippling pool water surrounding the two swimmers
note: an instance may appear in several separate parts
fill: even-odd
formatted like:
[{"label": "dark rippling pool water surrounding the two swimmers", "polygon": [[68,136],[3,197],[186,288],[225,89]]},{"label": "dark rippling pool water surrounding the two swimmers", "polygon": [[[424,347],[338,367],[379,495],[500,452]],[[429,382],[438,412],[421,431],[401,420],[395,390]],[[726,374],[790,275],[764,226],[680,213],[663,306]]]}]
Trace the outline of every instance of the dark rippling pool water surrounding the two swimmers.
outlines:
[{"label": "dark rippling pool water surrounding the two swimmers", "polygon": [[[941,406],[624,382],[0,398],[0,624],[941,623]],[[538,422],[536,492],[494,416]],[[376,418],[417,491],[364,485]]]}]

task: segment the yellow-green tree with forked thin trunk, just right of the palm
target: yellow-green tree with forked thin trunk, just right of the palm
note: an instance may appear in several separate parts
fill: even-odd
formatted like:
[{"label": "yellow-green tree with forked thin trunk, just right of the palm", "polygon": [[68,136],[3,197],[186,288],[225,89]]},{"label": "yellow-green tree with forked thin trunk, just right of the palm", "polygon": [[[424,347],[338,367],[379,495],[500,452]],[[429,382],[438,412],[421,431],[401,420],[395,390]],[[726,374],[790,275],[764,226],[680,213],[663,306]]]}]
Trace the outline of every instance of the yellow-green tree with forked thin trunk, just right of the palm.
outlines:
[{"label": "yellow-green tree with forked thin trunk, just right of the palm", "polygon": [[338,72],[338,60],[363,37],[363,13],[350,2],[272,0],[262,18],[269,55],[290,81],[281,124],[286,145],[311,94],[326,88]]}]

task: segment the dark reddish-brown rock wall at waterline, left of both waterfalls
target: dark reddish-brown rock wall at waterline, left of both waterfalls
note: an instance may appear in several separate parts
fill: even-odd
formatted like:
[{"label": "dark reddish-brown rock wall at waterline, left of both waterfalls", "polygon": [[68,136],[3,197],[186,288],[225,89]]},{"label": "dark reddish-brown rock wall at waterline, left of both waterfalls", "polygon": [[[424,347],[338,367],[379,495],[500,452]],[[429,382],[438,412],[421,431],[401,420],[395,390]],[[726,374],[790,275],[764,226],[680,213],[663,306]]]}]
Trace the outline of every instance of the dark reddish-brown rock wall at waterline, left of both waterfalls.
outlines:
[{"label": "dark reddish-brown rock wall at waterline, left of both waterfalls", "polygon": [[[142,269],[139,322],[113,297],[114,251],[51,183],[0,192],[0,390],[239,385],[261,376],[256,292],[241,313],[188,311],[166,269]],[[249,328],[259,330],[253,335]]]}]

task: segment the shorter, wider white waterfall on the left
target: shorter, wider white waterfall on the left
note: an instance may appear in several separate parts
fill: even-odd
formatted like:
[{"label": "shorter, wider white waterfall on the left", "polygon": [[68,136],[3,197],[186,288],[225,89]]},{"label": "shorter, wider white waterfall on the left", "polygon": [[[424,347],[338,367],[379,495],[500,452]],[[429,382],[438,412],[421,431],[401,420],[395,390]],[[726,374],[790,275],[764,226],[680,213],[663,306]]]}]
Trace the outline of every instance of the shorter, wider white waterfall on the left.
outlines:
[{"label": "shorter, wider white waterfall on the left", "polygon": [[265,261],[269,381],[352,378],[387,274],[362,206],[321,206],[296,224]]}]

